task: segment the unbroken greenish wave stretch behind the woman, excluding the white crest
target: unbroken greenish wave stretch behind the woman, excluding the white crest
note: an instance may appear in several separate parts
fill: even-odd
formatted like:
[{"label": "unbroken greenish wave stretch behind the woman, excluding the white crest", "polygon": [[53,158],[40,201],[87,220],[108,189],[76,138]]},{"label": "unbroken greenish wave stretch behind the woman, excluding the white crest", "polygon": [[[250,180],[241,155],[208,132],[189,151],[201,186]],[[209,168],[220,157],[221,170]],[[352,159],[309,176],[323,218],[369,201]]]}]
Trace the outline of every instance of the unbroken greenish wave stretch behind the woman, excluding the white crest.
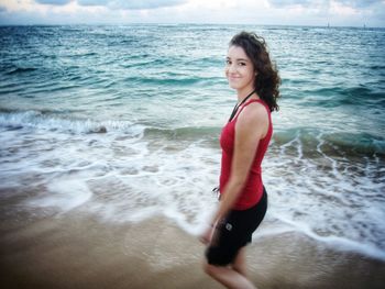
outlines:
[{"label": "unbroken greenish wave stretch behind the woman, excluding the white crest", "polygon": [[[220,126],[185,126],[174,129],[146,127],[144,137],[174,141],[210,141],[219,147]],[[380,156],[385,157],[385,137],[370,133],[333,132],[300,127],[274,132],[273,146],[290,151],[301,151],[304,157],[328,156]],[[293,149],[290,149],[293,148]]]}]

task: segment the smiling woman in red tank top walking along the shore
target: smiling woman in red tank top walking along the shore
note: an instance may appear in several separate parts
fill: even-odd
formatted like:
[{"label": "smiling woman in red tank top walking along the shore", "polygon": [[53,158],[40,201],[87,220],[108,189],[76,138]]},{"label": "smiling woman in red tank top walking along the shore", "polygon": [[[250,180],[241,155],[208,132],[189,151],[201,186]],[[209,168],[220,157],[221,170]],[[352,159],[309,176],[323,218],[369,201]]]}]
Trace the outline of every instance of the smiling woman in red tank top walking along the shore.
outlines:
[{"label": "smiling woman in red tank top walking along the shore", "polygon": [[200,240],[207,244],[205,271],[227,288],[255,288],[246,278],[244,248],[262,222],[267,194],[261,163],[273,133],[271,112],[278,110],[280,79],[265,41],[241,32],[230,42],[226,77],[238,104],[224,125],[220,202]]}]

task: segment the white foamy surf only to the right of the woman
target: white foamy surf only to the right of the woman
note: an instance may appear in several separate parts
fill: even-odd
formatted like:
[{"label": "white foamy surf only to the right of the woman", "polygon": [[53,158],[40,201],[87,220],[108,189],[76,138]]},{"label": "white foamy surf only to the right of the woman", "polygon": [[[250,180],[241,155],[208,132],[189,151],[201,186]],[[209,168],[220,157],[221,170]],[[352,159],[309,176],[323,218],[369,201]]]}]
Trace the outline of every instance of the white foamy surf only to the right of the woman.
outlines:
[{"label": "white foamy surf only to the right of the woman", "polygon": [[[297,135],[296,142],[301,142]],[[288,142],[265,162],[270,215],[289,227],[341,249],[384,259],[384,184],[375,177],[378,162],[352,163],[323,151],[317,136],[318,158],[304,155],[304,146]],[[296,149],[290,149],[295,146]],[[317,156],[317,155],[316,155]],[[383,165],[382,165],[383,166]]]}]

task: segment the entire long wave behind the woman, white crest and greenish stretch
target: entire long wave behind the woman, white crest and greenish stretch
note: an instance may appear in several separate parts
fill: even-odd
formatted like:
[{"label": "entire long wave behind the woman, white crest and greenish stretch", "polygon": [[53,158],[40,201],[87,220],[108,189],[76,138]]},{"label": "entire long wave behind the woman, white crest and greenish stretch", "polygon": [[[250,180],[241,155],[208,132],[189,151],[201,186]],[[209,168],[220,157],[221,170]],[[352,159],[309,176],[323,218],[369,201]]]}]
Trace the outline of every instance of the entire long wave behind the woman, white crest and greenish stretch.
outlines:
[{"label": "entire long wave behind the woman, white crest and greenish stretch", "polygon": [[[20,130],[35,127],[67,133],[119,132],[146,140],[209,142],[219,147],[220,126],[160,127],[156,123],[140,124],[122,120],[91,120],[74,116],[75,111],[59,110],[9,110],[0,108],[0,127]],[[274,132],[274,147],[285,153],[298,149],[304,157],[328,156],[378,156],[385,157],[385,137],[370,133],[322,132],[318,129],[298,127]]]}]

